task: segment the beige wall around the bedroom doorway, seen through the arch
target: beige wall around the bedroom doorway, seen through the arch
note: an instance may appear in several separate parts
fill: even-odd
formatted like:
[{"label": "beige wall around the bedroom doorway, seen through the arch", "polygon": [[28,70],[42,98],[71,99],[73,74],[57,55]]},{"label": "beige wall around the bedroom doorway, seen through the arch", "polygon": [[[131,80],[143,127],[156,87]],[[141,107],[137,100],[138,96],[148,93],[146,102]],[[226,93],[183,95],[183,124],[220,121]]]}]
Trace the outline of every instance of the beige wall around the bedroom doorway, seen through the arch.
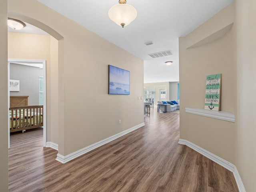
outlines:
[{"label": "beige wall around the bedroom doorway, seen through the arch", "polygon": [[58,41],[49,35],[8,32],[8,58],[46,60],[46,141],[58,144]]}]

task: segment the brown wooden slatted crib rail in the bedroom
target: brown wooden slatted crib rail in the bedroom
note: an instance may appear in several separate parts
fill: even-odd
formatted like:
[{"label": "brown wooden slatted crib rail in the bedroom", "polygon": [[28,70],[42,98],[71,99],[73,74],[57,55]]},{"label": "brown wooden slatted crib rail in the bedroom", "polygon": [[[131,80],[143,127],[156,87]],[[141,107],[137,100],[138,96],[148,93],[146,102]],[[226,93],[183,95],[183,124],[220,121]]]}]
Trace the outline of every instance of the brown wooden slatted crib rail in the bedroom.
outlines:
[{"label": "brown wooden slatted crib rail in the bedroom", "polygon": [[42,105],[13,106],[9,110],[10,132],[24,131],[44,126],[44,107]]}]

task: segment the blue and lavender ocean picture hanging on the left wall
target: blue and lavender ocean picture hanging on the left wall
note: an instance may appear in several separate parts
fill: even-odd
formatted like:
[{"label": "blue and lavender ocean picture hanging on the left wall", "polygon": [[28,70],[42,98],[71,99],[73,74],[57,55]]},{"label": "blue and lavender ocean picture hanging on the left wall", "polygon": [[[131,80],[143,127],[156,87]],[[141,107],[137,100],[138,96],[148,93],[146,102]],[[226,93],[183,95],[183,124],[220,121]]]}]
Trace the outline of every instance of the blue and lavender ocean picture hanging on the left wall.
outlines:
[{"label": "blue and lavender ocean picture hanging on the left wall", "polygon": [[130,95],[130,71],[108,65],[108,94]]}]

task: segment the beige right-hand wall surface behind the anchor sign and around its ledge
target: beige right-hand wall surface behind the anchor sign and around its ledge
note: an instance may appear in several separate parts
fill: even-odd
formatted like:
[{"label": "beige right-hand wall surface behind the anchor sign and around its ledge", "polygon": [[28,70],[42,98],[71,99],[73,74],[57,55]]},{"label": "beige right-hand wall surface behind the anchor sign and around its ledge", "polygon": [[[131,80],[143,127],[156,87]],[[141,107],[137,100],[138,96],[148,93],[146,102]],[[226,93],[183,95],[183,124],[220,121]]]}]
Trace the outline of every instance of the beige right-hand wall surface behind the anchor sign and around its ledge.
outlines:
[{"label": "beige right-hand wall surface behind the anchor sign and around its ledge", "polygon": [[233,4],[230,4],[186,37],[179,39],[180,138],[231,163],[234,163],[235,157],[235,124],[189,114],[185,108],[204,109],[206,76],[221,73],[221,110],[233,114],[236,111],[234,29],[208,44],[188,48],[230,25],[234,21],[233,9]]}]

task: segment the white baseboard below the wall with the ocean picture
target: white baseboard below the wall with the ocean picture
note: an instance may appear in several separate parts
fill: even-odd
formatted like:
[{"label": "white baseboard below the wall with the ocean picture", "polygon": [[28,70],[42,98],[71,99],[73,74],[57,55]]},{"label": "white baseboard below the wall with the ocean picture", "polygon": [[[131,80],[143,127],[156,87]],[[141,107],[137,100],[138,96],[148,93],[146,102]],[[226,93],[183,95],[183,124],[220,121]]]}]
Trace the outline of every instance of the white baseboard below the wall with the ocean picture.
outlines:
[{"label": "white baseboard below the wall with the ocean picture", "polygon": [[63,156],[61,154],[57,154],[56,160],[64,164],[64,163],[69,162],[69,161],[71,161],[71,160],[73,160],[73,159],[75,159],[75,158],[77,158],[77,157],[79,157],[79,156],[81,156],[83,154],[86,154],[87,152],[89,152],[91,150],[94,150],[94,149],[96,149],[96,148],[98,148],[98,147],[100,147],[100,146],[102,146],[102,145],[104,145],[104,144],[106,144],[106,143],[108,143],[110,141],[113,141],[113,140],[115,140],[115,139],[117,139],[117,138],[119,138],[121,136],[124,136],[125,134],[128,134],[128,133],[130,133],[130,132],[132,132],[132,131],[134,131],[134,130],[136,130],[136,129],[144,126],[144,125],[145,125],[144,123],[139,124],[139,125],[134,126],[134,127],[130,128],[128,130],[125,130],[123,132],[115,134],[115,135],[113,135],[113,136],[111,136],[109,138],[106,138],[104,140],[96,142],[96,143],[94,143],[94,144],[92,144],[90,146],[87,146],[87,147],[85,147],[83,149],[80,149],[80,150],[78,150],[76,152],[73,152],[71,154],[68,154],[66,156]]}]

